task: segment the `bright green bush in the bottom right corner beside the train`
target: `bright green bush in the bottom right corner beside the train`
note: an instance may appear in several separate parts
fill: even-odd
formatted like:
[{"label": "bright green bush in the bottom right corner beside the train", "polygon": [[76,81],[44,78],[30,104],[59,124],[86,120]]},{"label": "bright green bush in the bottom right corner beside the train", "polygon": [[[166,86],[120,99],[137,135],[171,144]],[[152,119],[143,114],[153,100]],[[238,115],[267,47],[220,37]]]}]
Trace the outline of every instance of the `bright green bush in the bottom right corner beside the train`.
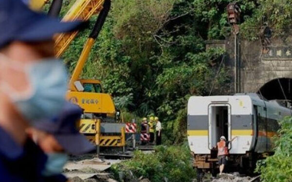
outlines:
[{"label": "bright green bush in the bottom right corner beside the train", "polygon": [[275,138],[275,153],[257,164],[262,182],[292,181],[292,117],[281,122],[280,137]]}]

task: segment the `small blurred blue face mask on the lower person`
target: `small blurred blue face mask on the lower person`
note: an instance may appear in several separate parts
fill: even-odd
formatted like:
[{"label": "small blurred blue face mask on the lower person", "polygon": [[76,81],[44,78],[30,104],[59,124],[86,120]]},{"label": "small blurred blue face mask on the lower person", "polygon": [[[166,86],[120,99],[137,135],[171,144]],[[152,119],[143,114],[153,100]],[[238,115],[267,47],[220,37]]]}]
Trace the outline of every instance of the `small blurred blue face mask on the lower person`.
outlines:
[{"label": "small blurred blue face mask on the lower person", "polygon": [[64,165],[68,161],[68,155],[65,153],[51,153],[47,154],[48,159],[45,164],[45,168],[42,171],[44,176],[54,176],[61,174],[63,171]]}]

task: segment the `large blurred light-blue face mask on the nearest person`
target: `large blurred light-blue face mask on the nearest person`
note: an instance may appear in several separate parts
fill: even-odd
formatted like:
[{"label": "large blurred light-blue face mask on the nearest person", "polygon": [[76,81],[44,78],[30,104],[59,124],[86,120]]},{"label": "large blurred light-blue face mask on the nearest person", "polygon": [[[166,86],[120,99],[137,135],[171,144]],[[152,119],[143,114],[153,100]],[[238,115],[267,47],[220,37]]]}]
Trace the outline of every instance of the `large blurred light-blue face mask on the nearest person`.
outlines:
[{"label": "large blurred light-blue face mask on the nearest person", "polygon": [[[19,68],[18,68],[19,69]],[[13,94],[6,89],[18,111],[28,121],[57,115],[65,103],[67,70],[60,60],[42,60],[23,69],[31,84],[29,94]],[[9,87],[8,84],[1,88]],[[3,90],[3,89],[2,89]],[[5,89],[4,89],[5,90]]]}]

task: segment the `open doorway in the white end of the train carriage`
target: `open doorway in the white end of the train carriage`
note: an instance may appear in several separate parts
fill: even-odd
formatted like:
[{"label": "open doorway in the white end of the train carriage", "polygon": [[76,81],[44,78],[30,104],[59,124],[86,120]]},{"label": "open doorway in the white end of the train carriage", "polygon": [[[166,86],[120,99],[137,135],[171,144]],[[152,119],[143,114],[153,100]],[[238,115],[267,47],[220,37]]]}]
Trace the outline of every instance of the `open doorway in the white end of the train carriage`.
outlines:
[{"label": "open doorway in the white end of the train carriage", "polygon": [[226,140],[231,137],[231,110],[227,104],[209,105],[209,128],[208,128],[208,146],[209,149],[216,146],[221,136]]}]

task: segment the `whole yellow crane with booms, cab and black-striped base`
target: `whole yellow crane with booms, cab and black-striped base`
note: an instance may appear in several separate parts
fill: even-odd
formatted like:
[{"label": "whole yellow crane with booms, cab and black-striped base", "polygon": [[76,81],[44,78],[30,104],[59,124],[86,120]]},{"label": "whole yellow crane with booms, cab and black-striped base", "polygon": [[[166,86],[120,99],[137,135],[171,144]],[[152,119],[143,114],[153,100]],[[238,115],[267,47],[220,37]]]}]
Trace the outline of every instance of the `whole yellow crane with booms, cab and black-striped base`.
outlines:
[{"label": "whole yellow crane with booms, cab and black-striped base", "polygon": [[[58,16],[61,10],[62,1],[63,0],[53,0],[48,13],[49,16]],[[111,133],[118,131],[121,135],[107,136],[101,134],[101,122],[109,121],[109,118],[111,118],[111,121],[116,119],[116,109],[110,94],[103,93],[100,80],[80,79],[80,74],[90,55],[91,48],[110,11],[110,3],[110,0],[76,0],[62,19],[62,21],[86,21],[89,20],[92,15],[99,13],[92,32],[84,45],[73,71],[66,97],[70,102],[79,105],[84,109],[83,116],[77,123],[77,127],[81,133],[88,137],[89,140],[95,142],[98,148],[99,146],[123,146],[124,148],[124,126],[120,125],[119,127],[116,127],[118,124],[115,124],[116,126],[110,126],[110,128],[115,128]],[[55,53],[58,57],[69,47],[77,34],[78,32],[73,32],[69,34],[60,34],[55,37]]]}]

